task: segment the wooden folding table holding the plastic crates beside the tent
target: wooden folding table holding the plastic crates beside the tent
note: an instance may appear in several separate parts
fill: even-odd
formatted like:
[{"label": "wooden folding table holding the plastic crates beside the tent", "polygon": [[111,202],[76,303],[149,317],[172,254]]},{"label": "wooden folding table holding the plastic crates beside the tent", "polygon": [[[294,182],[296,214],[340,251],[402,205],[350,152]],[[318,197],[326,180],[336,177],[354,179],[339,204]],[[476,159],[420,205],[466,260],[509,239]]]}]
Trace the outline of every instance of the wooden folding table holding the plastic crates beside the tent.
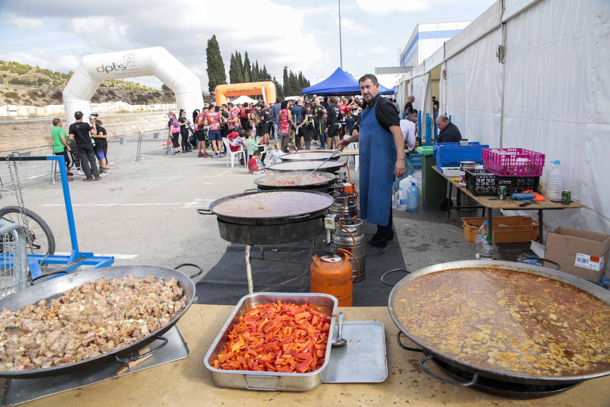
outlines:
[{"label": "wooden folding table holding the plastic crates beside the tent", "polygon": [[[464,186],[464,185],[459,185],[458,181],[454,181],[454,178],[456,177],[447,177],[447,175],[443,174],[442,171],[440,171],[436,166],[432,166],[432,169],[434,169],[434,171],[438,172],[440,175],[442,175],[445,179],[447,179],[447,182],[449,183],[449,194],[448,194],[448,199],[451,200],[451,188],[452,186],[455,186],[456,188],[461,189],[461,191],[464,191],[464,193],[468,194],[468,196],[472,197],[472,199],[476,200],[476,202],[478,202],[479,205],[475,205],[475,206],[461,206],[459,207],[457,204],[458,202],[456,202],[456,206],[455,207],[451,207],[451,205],[449,205],[449,202],[447,203],[447,219],[449,219],[449,211],[451,209],[458,209],[458,208],[483,208],[483,215],[485,216],[485,210],[486,208],[489,208],[489,224],[492,224],[492,210],[493,209],[503,209],[503,210],[508,210],[508,211],[518,211],[518,210],[537,210],[538,211],[538,222],[539,222],[539,227],[538,227],[538,241],[539,243],[544,243],[544,238],[543,238],[543,234],[542,234],[542,211],[544,210],[563,210],[563,209],[578,209],[578,208],[582,208],[584,207],[583,204],[581,204],[580,202],[577,202],[576,200],[572,200],[572,202],[570,203],[570,205],[564,205],[561,204],[561,202],[551,202],[550,199],[547,200],[537,200],[535,201],[533,204],[528,205],[526,207],[520,207],[520,204],[523,204],[523,202],[519,201],[519,200],[512,200],[512,199],[504,199],[504,200],[489,200],[490,198],[497,198],[497,196],[475,196],[473,195],[470,191],[468,191],[468,189]],[[491,233],[493,233],[493,231],[491,231]]]}]

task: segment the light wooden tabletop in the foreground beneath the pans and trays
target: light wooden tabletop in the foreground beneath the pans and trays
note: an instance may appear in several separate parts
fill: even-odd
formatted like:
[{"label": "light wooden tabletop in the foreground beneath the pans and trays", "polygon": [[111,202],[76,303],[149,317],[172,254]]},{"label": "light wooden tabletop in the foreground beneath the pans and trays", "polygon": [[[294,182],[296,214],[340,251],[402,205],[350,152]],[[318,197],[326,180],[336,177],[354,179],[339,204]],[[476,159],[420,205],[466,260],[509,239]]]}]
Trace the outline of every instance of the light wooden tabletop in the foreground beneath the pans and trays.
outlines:
[{"label": "light wooden tabletop in the foreground beneath the pans and trays", "polygon": [[[388,378],[384,383],[321,384],[312,391],[266,392],[228,389],[212,383],[203,358],[232,306],[193,305],[178,322],[190,356],[129,375],[42,398],[27,406],[608,406],[610,376],[536,400],[513,400],[434,380],[417,363],[421,353],[398,347],[398,328],[387,307],[345,307],[345,320],[378,320],[386,331]],[[417,347],[403,336],[404,345]],[[426,367],[443,377],[436,365]],[[87,374],[87,372],[83,372]]]}]

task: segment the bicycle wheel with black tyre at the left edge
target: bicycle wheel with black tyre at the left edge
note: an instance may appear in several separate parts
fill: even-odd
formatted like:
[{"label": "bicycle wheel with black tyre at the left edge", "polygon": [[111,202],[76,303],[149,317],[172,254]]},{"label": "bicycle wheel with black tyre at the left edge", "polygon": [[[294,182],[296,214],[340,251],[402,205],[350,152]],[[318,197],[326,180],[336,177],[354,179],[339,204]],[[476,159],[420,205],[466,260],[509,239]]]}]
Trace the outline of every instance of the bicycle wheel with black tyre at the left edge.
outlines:
[{"label": "bicycle wheel with black tyre at the left edge", "polygon": [[0,208],[0,218],[23,226],[27,238],[27,254],[54,254],[55,237],[49,225],[34,211],[23,208],[23,212],[28,218],[27,227],[17,206]]}]

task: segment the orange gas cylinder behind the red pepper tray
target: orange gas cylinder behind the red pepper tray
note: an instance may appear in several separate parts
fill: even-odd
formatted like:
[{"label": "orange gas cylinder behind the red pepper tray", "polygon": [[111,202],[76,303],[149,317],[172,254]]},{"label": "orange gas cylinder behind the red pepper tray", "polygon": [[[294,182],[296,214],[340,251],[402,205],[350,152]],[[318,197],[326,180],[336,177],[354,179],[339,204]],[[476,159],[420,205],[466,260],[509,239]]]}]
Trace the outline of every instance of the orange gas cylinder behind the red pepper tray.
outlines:
[{"label": "orange gas cylinder behind the red pepper tray", "polygon": [[336,244],[326,244],[326,255],[314,255],[310,267],[310,283],[312,293],[334,295],[339,300],[340,307],[351,307],[352,280],[351,263],[341,252],[336,254]]}]

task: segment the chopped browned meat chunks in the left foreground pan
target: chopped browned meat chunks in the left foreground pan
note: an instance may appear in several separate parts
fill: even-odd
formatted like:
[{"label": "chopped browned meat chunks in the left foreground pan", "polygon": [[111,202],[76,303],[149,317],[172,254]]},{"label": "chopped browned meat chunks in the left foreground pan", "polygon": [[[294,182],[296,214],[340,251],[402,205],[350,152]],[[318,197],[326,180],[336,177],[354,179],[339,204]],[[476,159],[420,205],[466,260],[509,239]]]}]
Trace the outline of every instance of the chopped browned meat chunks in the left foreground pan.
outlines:
[{"label": "chopped browned meat chunks in the left foreground pan", "polygon": [[0,371],[43,369],[126,347],[186,306],[176,279],[131,274],[85,282],[57,299],[0,311]]}]

